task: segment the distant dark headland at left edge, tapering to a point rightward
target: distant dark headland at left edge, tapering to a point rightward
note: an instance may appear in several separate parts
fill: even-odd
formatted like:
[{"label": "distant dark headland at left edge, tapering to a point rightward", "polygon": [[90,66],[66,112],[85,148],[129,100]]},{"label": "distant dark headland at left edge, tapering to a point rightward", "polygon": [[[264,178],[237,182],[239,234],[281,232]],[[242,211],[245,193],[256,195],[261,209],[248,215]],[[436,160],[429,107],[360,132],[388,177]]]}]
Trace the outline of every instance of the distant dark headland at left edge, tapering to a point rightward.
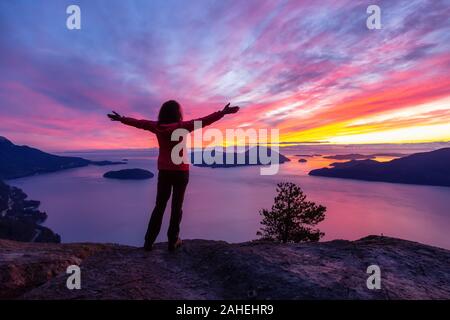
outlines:
[{"label": "distant dark headland at left edge, tapering to a point rightward", "polygon": [[18,146],[0,137],[0,179],[16,179],[88,165],[109,166],[121,161],[92,161],[79,157],[63,157],[29,146]]}]

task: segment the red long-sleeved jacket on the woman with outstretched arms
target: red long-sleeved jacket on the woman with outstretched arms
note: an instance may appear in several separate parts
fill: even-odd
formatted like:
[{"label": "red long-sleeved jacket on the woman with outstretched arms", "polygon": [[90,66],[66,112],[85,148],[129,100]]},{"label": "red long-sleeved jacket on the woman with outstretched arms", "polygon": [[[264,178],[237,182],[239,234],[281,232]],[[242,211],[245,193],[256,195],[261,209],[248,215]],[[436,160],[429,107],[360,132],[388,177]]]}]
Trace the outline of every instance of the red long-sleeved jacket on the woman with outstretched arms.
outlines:
[{"label": "red long-sleeved jacket on the woman with outstretched arms", "polygon": [[194,129],[194,121],[201,121],[202,127],[208,126],[217,120],[220,120],[224,116],[222,111],[211,113],[210,115],[189,120],[180,121],[169,124],[158,124],[157,121],[151,120],[136,120],[133,118],[122,117],[121,122],[123,124],[133,126],[139,129],[148,130],[156,134],[159,144],[159,156],[158,156],[158,170],[189,170],[188,163],[174,164],[171,158],[172,148],[179,143],[179,141],[172,141],[171,135],[175,129],[183,128],[192,132]]}]

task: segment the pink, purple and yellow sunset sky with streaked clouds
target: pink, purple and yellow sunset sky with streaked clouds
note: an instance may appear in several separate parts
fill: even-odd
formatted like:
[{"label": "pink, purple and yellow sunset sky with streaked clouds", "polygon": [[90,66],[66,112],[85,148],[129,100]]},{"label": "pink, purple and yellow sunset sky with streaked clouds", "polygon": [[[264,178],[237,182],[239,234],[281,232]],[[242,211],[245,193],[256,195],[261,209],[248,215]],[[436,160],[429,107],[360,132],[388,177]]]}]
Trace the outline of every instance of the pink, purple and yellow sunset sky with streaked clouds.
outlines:
[{"label": "pink, purple and yellow sunset sky with streaked clouds", "polygon": [[[81,30],[66,7],[81,7]],[[381,7],[381,30],[366,8]],[[46,150],[144,148],[106,113],[278,128],[283,142],[450,140],[450,1],[0,2],[0,135]]]}]

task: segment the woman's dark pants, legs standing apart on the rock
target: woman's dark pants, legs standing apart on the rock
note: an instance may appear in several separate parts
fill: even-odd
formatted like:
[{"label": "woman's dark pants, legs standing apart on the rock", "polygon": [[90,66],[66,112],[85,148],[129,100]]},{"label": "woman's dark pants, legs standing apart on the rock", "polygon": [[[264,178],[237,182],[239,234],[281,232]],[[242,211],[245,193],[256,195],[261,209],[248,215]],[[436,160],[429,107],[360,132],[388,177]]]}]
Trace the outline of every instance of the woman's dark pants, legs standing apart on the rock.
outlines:
[{"label": "woman's dark pants, legs standing apart on the rock", "polygon": [[148,223],[147,233],[145,234],[146,244],[153,244],[161,230],[164,211],[166,210],[167,201],[170,198],[172,190],[172,211],[170,214],[170,225],[167,231],[167,237],[169,243],[177,241],[180,232],[181,217],[183,215],[182,207],[184,192],[186,191],[188,182],[189,171],[159,171],[156,205],[155,209],[153,209],[150,222]]}]

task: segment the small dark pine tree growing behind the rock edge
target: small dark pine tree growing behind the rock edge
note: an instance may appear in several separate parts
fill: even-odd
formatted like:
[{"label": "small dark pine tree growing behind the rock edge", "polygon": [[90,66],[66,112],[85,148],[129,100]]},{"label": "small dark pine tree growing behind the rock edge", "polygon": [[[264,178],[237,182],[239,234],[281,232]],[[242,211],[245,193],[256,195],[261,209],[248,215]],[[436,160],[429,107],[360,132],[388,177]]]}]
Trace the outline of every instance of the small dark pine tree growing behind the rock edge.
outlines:
[{"label": "small dark pine tree growing behind the rock edge", "polygon": [[306,195],[295,183],[278,183],[277,193],[272,209],[259,212],[263,227],[257,235],[283,243],[319,241],[325,234],[313,227],[325,219],[326,208],[306,201]]}]

